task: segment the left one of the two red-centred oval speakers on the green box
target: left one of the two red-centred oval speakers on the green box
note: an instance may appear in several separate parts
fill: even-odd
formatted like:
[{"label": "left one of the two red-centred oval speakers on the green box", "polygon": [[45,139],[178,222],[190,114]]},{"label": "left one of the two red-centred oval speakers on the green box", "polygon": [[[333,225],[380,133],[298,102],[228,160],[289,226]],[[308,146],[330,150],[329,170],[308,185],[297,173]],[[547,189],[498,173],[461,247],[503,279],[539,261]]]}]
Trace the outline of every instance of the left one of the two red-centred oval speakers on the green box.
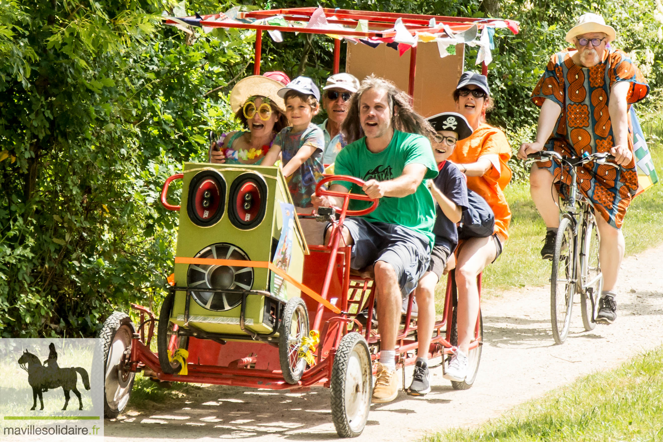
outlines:
[{"label": "left one of the two red-centred oval speakers on the green box", "polygon": [[225,210],[225,179],[216,170],[198,172],[189,184],[186,213],[195,225],[210,227]]}]

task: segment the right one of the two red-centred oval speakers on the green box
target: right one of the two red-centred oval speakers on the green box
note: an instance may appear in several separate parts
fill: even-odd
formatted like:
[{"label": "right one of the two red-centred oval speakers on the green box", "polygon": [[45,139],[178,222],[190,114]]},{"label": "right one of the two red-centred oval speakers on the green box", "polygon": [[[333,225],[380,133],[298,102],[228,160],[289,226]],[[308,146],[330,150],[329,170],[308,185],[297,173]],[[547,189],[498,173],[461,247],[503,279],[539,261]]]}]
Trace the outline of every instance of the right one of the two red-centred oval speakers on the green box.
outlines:
[{"label": "right one of the two red-centred oval speakers on the green box", "polygon": [[258,227],[265,219],[267,184],[257,174],[241,174],[230,186],[228,219],[237,229]]}]

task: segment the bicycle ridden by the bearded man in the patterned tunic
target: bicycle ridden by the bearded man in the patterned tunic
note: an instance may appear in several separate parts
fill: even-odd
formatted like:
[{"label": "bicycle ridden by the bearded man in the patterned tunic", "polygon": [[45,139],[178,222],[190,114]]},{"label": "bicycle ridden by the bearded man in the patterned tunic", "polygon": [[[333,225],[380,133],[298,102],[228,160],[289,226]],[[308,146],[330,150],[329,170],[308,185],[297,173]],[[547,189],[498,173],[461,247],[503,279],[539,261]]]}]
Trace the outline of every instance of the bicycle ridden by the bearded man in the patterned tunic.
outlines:
[{"label": "bicycle ridden by the bearded man in the patterned tunic", "polygon": [[[607,162],[615,157],[608,153],[585,154],[580,158],[562,156],[558,152],[542,151],[529,154],[527,158],[558,161],[568,166],[571,184],[564,205],[560,206],[560,227],[555,238],[550,276],[550,321],[552,336],[558,344],[568,337],[573,308],[573,296],[581,296],[582,322],[585,331],[596,326],[599,298],[603,290],[603,273],[599,261],[601,237],[596,226],[593,205],[578,192],[577,168],[587,162]],[[560,192],[561,193],[561,192]]]}]

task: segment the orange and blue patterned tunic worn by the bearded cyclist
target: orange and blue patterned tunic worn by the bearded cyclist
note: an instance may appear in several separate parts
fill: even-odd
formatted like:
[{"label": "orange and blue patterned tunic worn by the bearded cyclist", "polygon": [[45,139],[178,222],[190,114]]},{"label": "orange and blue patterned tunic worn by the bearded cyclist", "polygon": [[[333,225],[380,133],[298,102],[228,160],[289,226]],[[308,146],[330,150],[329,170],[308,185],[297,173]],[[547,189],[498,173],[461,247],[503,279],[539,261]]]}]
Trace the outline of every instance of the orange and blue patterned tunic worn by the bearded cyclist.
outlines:
[{"label": "orange and blue patterned tunic worn by the bearded cyclist", "polygon": [[[545,148],[566,156],[608,152],[615,146],[608,111],[613,84],[631,83],[627,94],[629,107],[646,97],[649,86],[640,70],[621,50],[606,49],[603,60],[591,68],[573,63],[573,52],[575,50],[552,56],[546,72],[532,92],[534,104],[542,106],[545,99],[550,99],[562,107]],[[628,142],[633,153],[630,117]],[[550,170],[560,182],[571,184],[568,170],[562,172],[557,162],[538,162],[538,166]],[[619,169],[606,164],[587,163],[579,168],[577,182],[579,191],[591,201],[601,217],[611,226],[621,228],[626,210],[638,189],[635,162],[631,161]],[[556,186],[559,190],[559,183]]]}]

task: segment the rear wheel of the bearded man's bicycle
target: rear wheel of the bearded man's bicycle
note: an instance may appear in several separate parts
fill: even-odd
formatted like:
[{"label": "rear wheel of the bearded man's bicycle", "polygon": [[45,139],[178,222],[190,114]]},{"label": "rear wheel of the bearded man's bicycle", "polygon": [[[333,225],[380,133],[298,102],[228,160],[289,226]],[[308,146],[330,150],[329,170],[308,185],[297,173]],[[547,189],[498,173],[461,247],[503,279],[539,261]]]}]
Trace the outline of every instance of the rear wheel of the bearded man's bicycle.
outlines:
[{"label": "rear wheel of the bearded man's bicycle", "polygon": [[[599,298],[603,290],[603,273],[599,261],[599,229],[591,213],[585,217],[583,226],[583,241],[580,249],[580,281],[583,286],[580,309],[582,311],[582,324],[585,331],[596,327],[596,313],[599,309]],[[587,286],[587,283],[591,285]]]}]

